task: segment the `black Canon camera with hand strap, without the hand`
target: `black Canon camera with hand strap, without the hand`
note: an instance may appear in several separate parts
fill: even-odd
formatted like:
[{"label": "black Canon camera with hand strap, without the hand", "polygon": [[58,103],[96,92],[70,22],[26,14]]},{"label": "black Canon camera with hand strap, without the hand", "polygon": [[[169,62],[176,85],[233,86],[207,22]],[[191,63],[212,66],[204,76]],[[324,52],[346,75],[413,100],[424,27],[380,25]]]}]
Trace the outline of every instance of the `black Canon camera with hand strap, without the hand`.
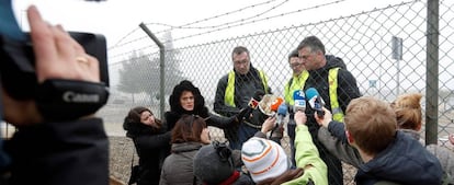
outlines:
[{"label": "black Canon camera with hand strap, without the hand", "polygon": [[35,100],[39,112],[47,120],[67,120],[95,113],[109,99],[105,37],[92,33],[69,34],[87,54],[99,60],[101,83],[49,79],[38,84],[30,34],[26,34],[25,42],[0,35],[2,88],[15,100]]}]

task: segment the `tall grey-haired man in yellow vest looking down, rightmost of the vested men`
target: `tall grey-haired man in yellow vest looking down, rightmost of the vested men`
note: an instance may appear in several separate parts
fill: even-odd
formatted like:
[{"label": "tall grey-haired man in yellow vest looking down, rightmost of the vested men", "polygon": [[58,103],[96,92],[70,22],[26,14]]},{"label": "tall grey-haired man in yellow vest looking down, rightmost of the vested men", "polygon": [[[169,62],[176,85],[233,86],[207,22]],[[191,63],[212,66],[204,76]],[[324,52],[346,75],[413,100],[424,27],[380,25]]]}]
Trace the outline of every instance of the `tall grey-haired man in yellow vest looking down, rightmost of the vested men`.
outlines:
[{"label": "tall grey-haired man in yellow vest looking down, rightmost of the vested men", "polygon": [[[325,101],[325,107],[332,113],[333,119],[342,122],[347,105],[351,100],[361,96],[356,79],[347,70],[345,63],[341,58],[326,55],[325,45],[316,36],[304,38],[299,43],[297,50],[300,62],[309,73],[302,83],[302,89],[306,91],[309,88],[315,88]],[[315,120],[314,113],[315,109],[307,106],[307,126],[314,143],[319,150],[320,158],[328,166],[329,184],[342,185],[343,173],[341,162],[317,140],[319,126]]]}]

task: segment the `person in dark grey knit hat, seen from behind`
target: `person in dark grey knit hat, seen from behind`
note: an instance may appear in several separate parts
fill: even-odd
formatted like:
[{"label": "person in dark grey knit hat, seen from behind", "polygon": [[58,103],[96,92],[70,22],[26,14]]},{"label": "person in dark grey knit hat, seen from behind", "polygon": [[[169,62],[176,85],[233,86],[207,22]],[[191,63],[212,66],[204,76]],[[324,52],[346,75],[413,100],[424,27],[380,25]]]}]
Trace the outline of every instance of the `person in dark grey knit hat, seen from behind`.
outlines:
[{"label": "person in dark grey knit hat, seen from behind", "polygon": [[253,185],[242,166],[241,152],[226,143],[213,141],[202,147],[194,157],[194,175],[205,185]]}]

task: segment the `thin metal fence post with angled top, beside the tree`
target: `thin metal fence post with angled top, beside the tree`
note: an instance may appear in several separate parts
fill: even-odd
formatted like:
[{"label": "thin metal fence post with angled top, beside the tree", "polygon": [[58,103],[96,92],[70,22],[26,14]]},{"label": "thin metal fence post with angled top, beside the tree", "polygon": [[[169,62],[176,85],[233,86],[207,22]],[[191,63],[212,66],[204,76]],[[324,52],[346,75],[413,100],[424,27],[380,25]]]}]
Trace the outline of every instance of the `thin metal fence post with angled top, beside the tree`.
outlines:
[{"label": "thin metal fence post with angled top, beside the tree", "polygon": [[166,104],[164,104],[164,77],[166,77],[166,48],[161,42],[159,42],[158,37],[148,30],[147,25],[144,23],[139,24],[140,28],[158,45],[159,47],[159,112],[161,118],[163,117]]}]

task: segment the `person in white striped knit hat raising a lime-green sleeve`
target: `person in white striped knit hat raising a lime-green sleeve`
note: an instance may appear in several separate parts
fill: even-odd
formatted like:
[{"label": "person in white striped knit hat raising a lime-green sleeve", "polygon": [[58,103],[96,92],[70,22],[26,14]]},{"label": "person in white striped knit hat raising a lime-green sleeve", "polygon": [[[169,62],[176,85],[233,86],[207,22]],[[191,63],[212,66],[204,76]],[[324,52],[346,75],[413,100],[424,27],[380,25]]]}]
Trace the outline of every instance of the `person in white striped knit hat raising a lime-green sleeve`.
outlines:
[{"label": "person in white striped knit hat raising a lime-green sleeve", "polygon": [[328,184],[327,165],[320,159],[306,125],[306,115],[295,113],[295,161],[296,169],[291,169],[292,161],[284,149],[266,139],[266,132],[275,126],[275,117],[269,117],[261,131],[242,144],[241,160],[252,180],[258,185],[275,184]]}]

